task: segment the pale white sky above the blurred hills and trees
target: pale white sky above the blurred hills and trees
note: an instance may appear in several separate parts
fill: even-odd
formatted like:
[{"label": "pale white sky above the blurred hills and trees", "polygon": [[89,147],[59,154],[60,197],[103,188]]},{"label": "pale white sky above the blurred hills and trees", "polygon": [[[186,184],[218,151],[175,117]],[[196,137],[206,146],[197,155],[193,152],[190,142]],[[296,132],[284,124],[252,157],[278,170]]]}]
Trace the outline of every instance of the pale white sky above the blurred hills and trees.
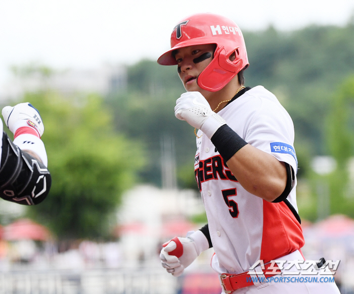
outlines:
[{"label": "pale white sky above the blurred hills and trees", "polygon": [[354,0],[0,0],[0,87],[12,65],[95,68],[157,59],[176,23],[199,12],[233,19],[241,30],[343,26]]}]

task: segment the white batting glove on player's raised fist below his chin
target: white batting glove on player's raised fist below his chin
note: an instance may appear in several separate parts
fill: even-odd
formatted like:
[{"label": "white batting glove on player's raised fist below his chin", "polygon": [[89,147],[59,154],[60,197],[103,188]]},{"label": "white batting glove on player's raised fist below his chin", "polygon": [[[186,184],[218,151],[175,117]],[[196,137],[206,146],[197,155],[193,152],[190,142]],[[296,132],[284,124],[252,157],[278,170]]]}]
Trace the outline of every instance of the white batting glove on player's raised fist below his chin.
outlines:
[{"label": "white batting glove on player's raised fist below his chin", "polygon": [[174,115],[192,127],[200,129],[210,139],[226,121],[213,112],[204,96],[199,92],[186,92],[176,101]]}]

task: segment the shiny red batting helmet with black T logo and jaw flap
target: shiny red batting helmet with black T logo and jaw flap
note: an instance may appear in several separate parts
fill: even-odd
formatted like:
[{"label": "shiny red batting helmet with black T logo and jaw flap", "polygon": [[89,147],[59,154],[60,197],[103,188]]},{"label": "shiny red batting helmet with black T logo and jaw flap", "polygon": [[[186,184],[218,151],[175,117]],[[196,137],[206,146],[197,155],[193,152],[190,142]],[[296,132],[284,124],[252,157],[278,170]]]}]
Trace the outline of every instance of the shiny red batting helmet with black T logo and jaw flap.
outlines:
[{"label": "shiny red batting helmet with black T logo and jaw flap", "polygon": [[[248,66],[245,40],[240,28],[230,19],[211,13],[185,18],[171,34],[171,49],[161,55],[161,65],[176,65],[172,52],[193,45],[216,44],[214,58],[199,74],[198,85],[208,91],[222,89],[239,71]],[[236,53],[236,59],[229,57]]]}]

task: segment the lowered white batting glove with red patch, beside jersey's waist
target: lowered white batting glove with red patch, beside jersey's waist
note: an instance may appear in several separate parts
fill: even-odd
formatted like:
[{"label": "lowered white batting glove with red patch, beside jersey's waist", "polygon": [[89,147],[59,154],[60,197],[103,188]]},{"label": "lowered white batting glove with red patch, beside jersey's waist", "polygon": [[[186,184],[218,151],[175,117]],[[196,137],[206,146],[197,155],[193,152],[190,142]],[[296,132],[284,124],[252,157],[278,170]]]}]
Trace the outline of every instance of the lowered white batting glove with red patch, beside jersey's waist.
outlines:
[{"label": "lowered white batting glove with red patch, beside jersey's waist", "polygon": [[174,237],[166,243],[160,253],[161,265],[175,277],[182,275],[185,268],[209,248],[208,240],[200,230],[187,238]]}]

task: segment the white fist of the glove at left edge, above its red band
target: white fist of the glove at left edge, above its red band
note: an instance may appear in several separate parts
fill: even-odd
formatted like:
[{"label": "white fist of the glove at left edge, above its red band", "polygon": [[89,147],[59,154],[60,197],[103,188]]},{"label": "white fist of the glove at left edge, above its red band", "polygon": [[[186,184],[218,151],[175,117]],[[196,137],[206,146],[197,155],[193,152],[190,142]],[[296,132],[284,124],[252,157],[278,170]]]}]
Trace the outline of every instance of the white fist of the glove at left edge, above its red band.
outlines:
[{"label": "white fist of the glove at left edge, above its red band", "polygon": [[28,102],[15,106],[6,106],[3,108],[2,114],[7,127],[13,134],[21,127],[34,128],[38,132],[39,137],[44,132],[43,122],[38,110]]}]

